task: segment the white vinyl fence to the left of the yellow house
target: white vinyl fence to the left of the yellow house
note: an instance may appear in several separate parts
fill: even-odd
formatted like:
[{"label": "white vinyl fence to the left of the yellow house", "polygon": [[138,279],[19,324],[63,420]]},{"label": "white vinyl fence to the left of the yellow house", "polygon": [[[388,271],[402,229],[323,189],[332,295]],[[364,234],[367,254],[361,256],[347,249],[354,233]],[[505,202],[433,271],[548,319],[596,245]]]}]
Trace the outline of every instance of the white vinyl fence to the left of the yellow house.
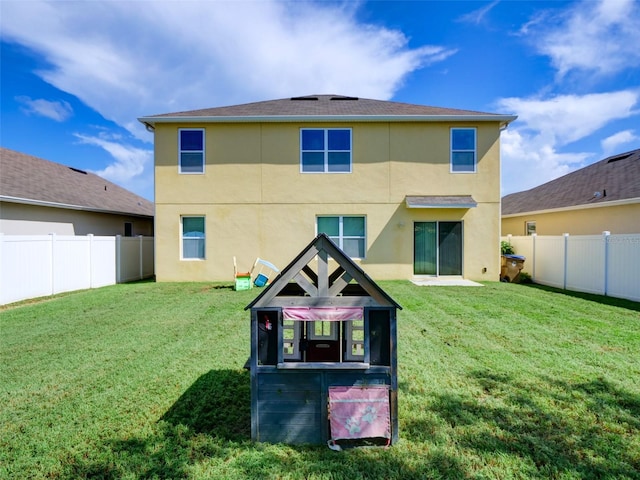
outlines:
[{"label": "white vinyl fence to the left of the yellow house", "polygon": [[0,305],[152,277],[153,237],[0,234]]}]

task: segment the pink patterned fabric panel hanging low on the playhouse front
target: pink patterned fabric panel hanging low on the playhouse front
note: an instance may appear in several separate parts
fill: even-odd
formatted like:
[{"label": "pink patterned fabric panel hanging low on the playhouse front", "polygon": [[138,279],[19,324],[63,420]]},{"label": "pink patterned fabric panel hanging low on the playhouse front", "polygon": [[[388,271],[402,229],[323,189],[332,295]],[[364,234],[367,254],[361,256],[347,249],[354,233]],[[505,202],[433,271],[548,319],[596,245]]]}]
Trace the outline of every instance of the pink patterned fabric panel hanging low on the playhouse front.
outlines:
[{"label": "pink patterned fabric panel hanging low on the playhouse front", "polygon": [[329,387],[331,438],[391,438],[389,387]]}]

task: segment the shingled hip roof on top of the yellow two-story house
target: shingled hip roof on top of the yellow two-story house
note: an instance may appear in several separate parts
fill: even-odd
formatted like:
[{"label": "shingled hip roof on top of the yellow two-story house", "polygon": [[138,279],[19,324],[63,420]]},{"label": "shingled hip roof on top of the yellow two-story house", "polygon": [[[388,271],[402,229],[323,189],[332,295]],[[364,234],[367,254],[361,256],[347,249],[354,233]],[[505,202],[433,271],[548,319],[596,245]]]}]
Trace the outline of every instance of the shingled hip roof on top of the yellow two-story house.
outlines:
[{"label": "shingled hip roof on top of the yellow two-story house", "polygon": [[[472,116],[487,120],[506,121],[507,116],[471,110],[429,107],[408,103],[346,97],[342,95],[308,95],[265,102],[246,103],[226,107],[205,108],[186,112],[165,113],[142,117],[141,122],[153,123],[168,118],[264,118],[264,117],[425,117],[425,116]],[[515,117],[510,117],[511,121]]]}]

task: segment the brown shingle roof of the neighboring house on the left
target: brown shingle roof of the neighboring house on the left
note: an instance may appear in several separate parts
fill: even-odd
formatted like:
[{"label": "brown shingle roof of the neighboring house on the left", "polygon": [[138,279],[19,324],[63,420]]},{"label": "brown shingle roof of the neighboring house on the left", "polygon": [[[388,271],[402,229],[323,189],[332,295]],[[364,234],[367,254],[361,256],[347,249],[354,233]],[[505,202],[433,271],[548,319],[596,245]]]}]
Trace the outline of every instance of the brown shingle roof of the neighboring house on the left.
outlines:
[{"label": "brown shingle roof of the neighboring house on the left", "polygon": [[153,217],[153,202],[90,172],[0,147],[0,200]]}]

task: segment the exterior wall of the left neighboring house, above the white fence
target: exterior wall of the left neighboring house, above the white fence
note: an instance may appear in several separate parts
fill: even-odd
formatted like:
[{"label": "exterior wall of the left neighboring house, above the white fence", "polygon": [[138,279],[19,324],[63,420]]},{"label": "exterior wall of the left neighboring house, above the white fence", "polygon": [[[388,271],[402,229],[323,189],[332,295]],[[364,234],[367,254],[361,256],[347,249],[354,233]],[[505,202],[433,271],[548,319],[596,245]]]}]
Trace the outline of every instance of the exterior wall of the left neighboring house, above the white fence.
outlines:
[{"label": "exterior wall of the left neighboring house, above the white fence", "polygon": [[149,218],[12,202],[0,205],[0,233],[6,235],[124,235],[126,222],[132,224],[134,236],[153,235]]}]

